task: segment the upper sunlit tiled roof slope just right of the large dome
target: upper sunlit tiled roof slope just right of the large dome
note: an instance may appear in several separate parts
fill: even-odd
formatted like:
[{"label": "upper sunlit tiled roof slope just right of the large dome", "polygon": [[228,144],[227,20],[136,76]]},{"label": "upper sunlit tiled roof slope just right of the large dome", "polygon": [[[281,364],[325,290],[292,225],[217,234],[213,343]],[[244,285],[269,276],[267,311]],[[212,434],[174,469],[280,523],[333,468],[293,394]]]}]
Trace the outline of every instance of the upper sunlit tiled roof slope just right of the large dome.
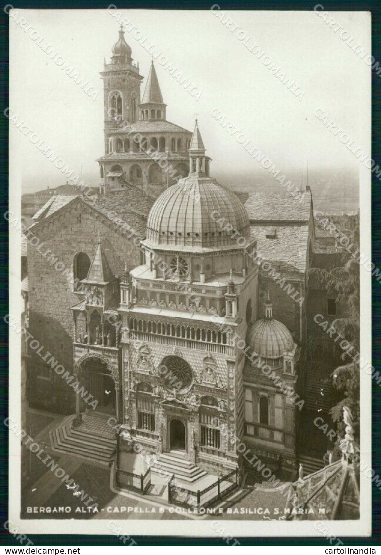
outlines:
[{"label": "upper sunlit tiled roof slope just right of the large dome", "polygon": [[[280,186],[282,189],[282,186]],[[250,222],[253,221],[309,221],[311,193],[304,191],[303,200],[290,194],[258,192],[250,193],[245,202]]]}]

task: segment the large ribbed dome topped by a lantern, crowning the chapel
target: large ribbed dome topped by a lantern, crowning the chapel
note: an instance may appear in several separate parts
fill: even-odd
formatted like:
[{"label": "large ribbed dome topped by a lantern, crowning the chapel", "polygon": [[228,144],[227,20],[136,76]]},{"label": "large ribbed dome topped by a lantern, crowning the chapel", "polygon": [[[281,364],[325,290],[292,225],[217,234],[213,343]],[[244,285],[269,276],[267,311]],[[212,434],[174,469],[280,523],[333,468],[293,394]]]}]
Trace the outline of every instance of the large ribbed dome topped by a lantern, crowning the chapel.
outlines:
[{"label": "large ribbed dome topped by a lantern, crowning the chapel", "polygon": [[[217,220],[222,218],[221,226]],[[224,231],[228,224],[232,230]],[[147,240],[157,245],[244,246],[242,240],[237,243],[240,236],[250,238],[246,209],[232,191],[207,176],[179,179],[159,196],[148,215]]]}]

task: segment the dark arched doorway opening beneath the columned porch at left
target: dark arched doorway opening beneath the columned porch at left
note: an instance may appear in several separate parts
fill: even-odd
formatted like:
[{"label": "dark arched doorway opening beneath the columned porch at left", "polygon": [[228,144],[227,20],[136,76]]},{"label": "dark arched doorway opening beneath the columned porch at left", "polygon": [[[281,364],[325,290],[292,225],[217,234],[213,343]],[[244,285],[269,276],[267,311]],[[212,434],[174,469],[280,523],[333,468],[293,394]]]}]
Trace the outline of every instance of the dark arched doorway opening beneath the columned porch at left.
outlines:
[{"label": "dark arched doorway opening beneath the columned porch at left", "polygon": [[[117,392],[115,382],[106,362],[98,357],[89,357],[81,364],[80,385],[84,391],[91,393],[97,403],[97,412],[117,415]],[[88,395],[84,396],[86,398]],[[83,403],[83,401],[82,401]],[[81,411],[88,406],[83,403]]]}]

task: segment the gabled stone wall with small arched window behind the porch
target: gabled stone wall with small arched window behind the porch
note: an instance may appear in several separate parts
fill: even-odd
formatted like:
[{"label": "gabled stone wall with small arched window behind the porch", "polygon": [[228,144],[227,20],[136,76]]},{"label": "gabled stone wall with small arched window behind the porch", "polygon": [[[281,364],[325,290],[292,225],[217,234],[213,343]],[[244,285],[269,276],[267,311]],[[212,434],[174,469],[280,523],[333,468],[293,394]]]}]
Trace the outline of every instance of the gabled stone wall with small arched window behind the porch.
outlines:
[{"label": "gabled stone wall with small arched window behind the porch", "polygon": [[[114,224],[104,223],[103,218],[93,213],[80,200],[75,206],[64,211],[44,230],[36,231],[43,243],[40,248],[44,254],[52,251],[54,259],[61,261],[58,268],[69,269],[73,274],[74,256],[88,254],[92,260],[97,246],[97,232],[109,266],[117,276],[122,274],[124,263],[132,269],[140,263],[139,249],[127,239]],[[73,292],[73,283],[57,271],[33,246],[28,244],[29,271],[29,329],[43,346],[43,352],[49,351],[66,370],[73,370],[73,316],[71,307],[83,299],[83,295]],[[58,262],[55,264],[58,265]],[[74,406],[74,393],[52,370],[42,370],[43,361],[34,356],[29,371],[29,402],[36,406],[45,406],[47,397],[49,408],[60,412],[70,412]],[[37,378],[41,370],[44,377]],[[40,402],[41,400],[41,402]],[[45,401],[45,402],[44,402]]]}]

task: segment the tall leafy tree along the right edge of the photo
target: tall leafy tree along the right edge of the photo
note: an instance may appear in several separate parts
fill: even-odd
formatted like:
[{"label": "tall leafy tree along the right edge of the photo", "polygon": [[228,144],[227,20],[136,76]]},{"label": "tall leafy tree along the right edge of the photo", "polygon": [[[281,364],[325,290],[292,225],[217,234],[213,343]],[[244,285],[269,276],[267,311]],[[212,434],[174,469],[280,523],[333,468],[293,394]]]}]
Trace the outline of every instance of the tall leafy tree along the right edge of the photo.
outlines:
[{"label": "tall leafy tree along the right edge of the photo", "polygon": [[[324,225],[325,226],[325,225]],[[349,243],[343,251],[343,266],[331,271],[311,268],[310,276],[318,276],[325,286],[328,297],[334,297],[337,304],[344,304],[348,309],[345,317],[337,318],[332,326],[345,341],[349,342],[341,354],[343,364],[332,372],[332,380],[339,392],[340,401],[330,413],[337,425],[340,436],[344,433],[343,406],[348,406],[353,416],[353,430],[356,440],[360,435],[360,366],[358,356],[360,350],[360,265],[357,256],[359,251],[359,216],[348,218],[347,238]],[[343,244],[345,241],[343,241]],[[341,341],[341,339],[340,339]]]}]

